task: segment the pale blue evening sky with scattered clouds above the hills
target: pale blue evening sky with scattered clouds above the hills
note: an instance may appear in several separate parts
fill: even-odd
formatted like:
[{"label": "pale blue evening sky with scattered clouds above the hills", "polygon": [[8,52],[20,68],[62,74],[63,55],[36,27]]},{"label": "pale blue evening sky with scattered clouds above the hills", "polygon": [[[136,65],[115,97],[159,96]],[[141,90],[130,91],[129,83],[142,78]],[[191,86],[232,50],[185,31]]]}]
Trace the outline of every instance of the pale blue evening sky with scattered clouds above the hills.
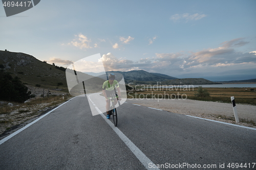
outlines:
[{"label": "pale blue evening sky with scattered clouds above the hills", "polygon": [[42,0],[9,17],[0,7],[0,50],[63,67],[99,53],[107,71],[255,79],[255,9],[254,0]]}]

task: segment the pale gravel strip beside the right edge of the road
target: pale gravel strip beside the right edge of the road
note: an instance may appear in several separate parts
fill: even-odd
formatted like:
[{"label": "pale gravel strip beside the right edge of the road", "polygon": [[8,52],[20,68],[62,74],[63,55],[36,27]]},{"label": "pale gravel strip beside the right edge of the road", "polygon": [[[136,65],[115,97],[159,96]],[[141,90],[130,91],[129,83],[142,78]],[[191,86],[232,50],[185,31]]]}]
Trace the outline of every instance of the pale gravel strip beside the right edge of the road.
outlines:
[{"label": "pale gravel strip beside the right edge of the road", "polygon": [[[238,117],[241,123],[236,123],[233,115],[233,108],[228,103],[205,102],[196,100],[155,100],[155,99],[127,99],[134,104],[166,110],[173,113],[197,116],[220,122],[237,124],[256,128],[256,106],[236,104]],[[243,121],[243,122],[242,122]],[[251,123],[253,122],[253,123]]]}]

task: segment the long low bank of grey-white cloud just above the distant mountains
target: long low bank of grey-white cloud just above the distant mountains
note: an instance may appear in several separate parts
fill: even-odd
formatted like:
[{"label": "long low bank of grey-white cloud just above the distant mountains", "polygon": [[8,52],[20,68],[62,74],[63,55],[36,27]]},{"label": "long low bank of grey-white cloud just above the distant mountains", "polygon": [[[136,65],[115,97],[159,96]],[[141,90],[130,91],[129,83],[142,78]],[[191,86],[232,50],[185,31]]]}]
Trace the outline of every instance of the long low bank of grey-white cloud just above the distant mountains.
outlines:
[{"label": "long low bank of grey-white cloud just above the distant mountains", "polygon": [[117,58],[112,53],[108,53],[103,55],[100,61],[103,62],[106,71],[143,69],[183,78],[185,78],[184,75],[187,75],[187,78],[218,77],[218,74],[224,75],[225,71],[255,70],[256,51],[242,53],[236,50],[237,47],[246,43],[242,38],[237,38],[225,41],[219,47],[199,52],[156,53],[154,57],[141,58],[137,61]]}]

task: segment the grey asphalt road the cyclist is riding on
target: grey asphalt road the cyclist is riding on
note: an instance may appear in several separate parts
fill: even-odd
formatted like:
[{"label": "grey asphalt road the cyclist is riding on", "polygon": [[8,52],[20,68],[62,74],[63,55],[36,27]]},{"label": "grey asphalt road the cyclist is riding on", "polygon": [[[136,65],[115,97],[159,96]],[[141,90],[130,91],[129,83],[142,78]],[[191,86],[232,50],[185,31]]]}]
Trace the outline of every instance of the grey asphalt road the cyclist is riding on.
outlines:
[{"label": "grey asphalt road the cyclist is riding on", "polygon": [[73,98],[0,144],[0,169],[252,169],[256,162],[256,130],[129,100],[117,108],[115,128],[92,114],[104,112],[102,99],[90,99]]}]

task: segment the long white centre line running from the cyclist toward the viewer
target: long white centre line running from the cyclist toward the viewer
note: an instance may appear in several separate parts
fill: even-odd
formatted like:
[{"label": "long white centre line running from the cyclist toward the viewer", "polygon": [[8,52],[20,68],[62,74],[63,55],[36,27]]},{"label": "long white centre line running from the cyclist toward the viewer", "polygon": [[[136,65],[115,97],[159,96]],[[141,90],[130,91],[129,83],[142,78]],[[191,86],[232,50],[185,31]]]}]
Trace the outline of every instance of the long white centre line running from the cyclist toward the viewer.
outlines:
[{"label": "long white centre line running from the cyclist toward the viewer", "polygon": [[[90,99],[90,95],[89,95]],[[92,101],[90,99],[90,101]],[[106,118],[106,116],[99,110],[98,107],[95,106],[95,109],[98,111],[98,113],[102,116],[102,118],[106,121],[106,123],[109,124],[109,126],[116,132],[116,134],[120,137],[120,139],[127,145],[127,147],[132,151],[132,153],[139,159],[139,161],[145,166],[146,169],[158,169],[159,168],[150,168],[148,167],[149,163],[154,164],[136,145],[127,138],[117,127],[114,126],[114,124]]]}]

